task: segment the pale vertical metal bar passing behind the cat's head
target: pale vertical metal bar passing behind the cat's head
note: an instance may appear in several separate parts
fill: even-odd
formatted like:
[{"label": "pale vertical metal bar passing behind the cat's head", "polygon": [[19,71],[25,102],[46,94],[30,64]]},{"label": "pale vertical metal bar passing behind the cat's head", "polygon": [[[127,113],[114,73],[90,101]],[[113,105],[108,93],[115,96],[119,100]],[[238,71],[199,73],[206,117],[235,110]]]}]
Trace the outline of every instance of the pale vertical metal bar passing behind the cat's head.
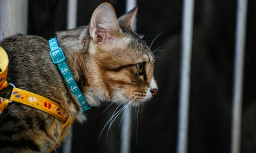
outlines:
[{"label": "pale vertical metal bar passing behind the cat's head", "polygon": [[[132,10],[136,7],[137,0],[126,0],[125,4],[125,12]],[[131,108],[127,107],[126,111],[124,111],[124,117],[121,125],[121,145],[120,152],[121,153],[130,153],[131,152]]]}]

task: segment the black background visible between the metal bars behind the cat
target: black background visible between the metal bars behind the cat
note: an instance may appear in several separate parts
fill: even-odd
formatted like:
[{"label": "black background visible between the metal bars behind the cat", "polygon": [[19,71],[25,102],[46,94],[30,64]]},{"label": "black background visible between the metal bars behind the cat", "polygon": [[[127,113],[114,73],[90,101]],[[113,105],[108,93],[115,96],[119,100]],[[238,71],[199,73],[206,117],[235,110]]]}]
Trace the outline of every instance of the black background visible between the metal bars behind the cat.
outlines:
[{"label": "black background visible between the metal bars behind the cat", "polygon": [[[87,25],[102,2],[79,1],[77,25]],[[110,3],[118,17],[125,12],[125,1]],[[230,151],[236,6],[233,0],[195,1],[188,152]],[[147,44],[163,33],[152,46],[161,50],[155,54],[159,92],[133,128],[131,152],[176,152],[182,1],[138,0],[138,7],[137,32]],[[249,0],[241,152],[256,152],[255,9],[255,1]],[[66,29],[66,17],[67,1],[29,1],[28,33],[49,39]],[[74,125],[72,152],[119,152],[120,118],[108,136],[104,130],[98,138],[116,108],[102,113],[106,106],[92,108],[86,123]]]}]

